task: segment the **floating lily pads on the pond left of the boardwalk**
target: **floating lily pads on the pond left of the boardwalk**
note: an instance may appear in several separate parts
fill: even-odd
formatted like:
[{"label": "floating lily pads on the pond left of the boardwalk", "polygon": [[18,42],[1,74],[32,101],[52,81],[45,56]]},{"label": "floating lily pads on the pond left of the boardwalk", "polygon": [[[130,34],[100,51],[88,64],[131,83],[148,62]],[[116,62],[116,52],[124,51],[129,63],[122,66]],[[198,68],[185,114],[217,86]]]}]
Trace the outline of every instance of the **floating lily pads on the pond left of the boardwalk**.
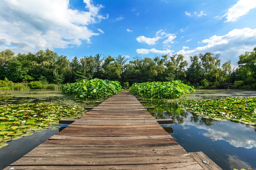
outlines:
[{"label": "floating lily pads on the pond left of the boardwalk", "polygon": [[0,105],[0,149],[8,141],[33,135],[47,129],[56,130],[59,119],[78,118],[84,112],[67,104],[6,104]]}]

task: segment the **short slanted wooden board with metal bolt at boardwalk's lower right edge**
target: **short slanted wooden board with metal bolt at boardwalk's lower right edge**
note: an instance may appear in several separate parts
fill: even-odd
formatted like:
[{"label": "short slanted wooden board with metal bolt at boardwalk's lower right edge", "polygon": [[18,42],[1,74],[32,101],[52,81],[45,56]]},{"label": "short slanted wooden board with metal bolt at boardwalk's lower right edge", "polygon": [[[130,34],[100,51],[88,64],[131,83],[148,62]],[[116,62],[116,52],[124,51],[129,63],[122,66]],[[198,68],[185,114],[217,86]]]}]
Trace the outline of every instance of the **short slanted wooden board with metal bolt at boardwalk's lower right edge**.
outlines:
[{"label": "short slanted wooden board with metal bolt at boardwalk's lower right edge", "polygon": [[[194,160],[204,169],[204,170],[222,170],[215,162],[213,162],[208,156],[203,152],[190,152],[189,153]],[[203,161],[209,162],[209,164],[203,163]]]}]

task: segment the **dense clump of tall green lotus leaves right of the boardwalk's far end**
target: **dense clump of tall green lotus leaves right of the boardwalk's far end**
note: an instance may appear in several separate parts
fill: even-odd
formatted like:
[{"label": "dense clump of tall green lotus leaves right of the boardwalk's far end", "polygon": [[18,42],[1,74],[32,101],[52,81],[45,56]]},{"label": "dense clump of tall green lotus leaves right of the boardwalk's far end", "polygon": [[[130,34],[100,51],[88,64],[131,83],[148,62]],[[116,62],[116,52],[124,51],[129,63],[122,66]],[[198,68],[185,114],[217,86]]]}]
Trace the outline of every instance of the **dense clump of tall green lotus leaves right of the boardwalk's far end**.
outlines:
[{"label": "dense clump of tall green lotus leaves right of the boardwalk's far end", "polygon": [[193,92],[194,87],[182,83],[181,80],[172,80],[171,82],[134,83],[129,91],[143,98],[176,99]]}]

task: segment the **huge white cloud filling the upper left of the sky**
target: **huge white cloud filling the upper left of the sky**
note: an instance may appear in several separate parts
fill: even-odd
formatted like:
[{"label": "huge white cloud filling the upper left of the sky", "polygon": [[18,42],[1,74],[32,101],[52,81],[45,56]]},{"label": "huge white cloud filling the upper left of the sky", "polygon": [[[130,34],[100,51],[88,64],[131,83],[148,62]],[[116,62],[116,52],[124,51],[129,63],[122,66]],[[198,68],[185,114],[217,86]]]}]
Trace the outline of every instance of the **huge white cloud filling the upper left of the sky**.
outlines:
[{"label": "huge white cloud filling the upper left of the sky", "polygon": [[98,14],[103,6],[91,0],[84,0],[84,11],[70,9],[69,0],[1,0],[0,6],[0,50],[12,45],[16,53],[91,43],[90,37],[99,33],[88,25],[108,18]]}]

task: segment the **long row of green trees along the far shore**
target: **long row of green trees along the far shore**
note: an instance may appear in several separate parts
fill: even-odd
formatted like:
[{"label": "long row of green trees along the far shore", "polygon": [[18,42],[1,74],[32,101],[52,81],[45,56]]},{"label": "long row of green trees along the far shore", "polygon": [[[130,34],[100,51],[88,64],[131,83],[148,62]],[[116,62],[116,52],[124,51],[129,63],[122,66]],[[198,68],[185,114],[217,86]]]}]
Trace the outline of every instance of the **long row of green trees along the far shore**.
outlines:
[{"label": "long row of green trees along the far shore", "polygon": [[[256,47],[252,52],[239,56],[237,67],[231,61],[220,65],[220,55],[205,53],[190,57],[191,64],[183,55],[162,55],[140,59],[86,56],[69,61],[49,49],[37,53],[18,54],[6,49],[0,52],[0,80],[12,82],[41,81],[49,84],[64,84],[82,79],[101,78],[133,83],[182,80],[197,88],[215,88],[221,83],[234,83],[244,89],[256,88]],[[127,83],[126,83],[127,84]]]}]

